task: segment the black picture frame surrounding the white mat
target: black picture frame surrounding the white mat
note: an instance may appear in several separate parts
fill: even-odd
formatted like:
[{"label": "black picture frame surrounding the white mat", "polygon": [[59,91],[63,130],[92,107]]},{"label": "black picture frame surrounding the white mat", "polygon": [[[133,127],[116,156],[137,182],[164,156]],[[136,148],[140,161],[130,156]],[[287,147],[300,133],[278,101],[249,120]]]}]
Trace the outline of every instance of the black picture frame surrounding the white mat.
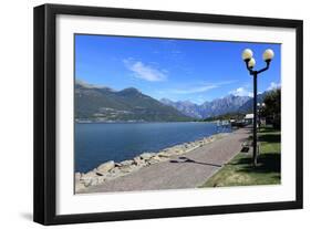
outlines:
[{"label": "black picture frame surrounding the white mat", "polygon": [[[56,215],[56,82],[55,82],[55,17],[58,14],[148,19],[183,22],[200,22],[229,25],[258,25],[296,29],[296,200],[263,204],[187,207],[82,215]],[[303,84],[302,84],[302,31],[301,20],[216,15],[186,12],[149,11],[99,7],[43,4],[34,8],[34,191],[33,220],[42,225],[97,222],[113,220],[184,217],[198,215],[301,209],[303,207]]]}]

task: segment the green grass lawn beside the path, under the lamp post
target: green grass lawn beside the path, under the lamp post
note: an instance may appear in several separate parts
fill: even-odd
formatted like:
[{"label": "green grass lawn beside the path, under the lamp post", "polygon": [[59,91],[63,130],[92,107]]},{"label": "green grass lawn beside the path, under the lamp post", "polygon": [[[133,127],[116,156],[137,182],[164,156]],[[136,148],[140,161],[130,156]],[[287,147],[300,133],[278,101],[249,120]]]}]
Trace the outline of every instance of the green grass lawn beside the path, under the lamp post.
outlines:
[{"label": "green grass lawn beside the path, under the lamp post", "polygon": [[200,187],[276,185],[281,183],[280,131],[262,128],[258,133],[260,155],[252,166],[250,153],[239,153]]}]

